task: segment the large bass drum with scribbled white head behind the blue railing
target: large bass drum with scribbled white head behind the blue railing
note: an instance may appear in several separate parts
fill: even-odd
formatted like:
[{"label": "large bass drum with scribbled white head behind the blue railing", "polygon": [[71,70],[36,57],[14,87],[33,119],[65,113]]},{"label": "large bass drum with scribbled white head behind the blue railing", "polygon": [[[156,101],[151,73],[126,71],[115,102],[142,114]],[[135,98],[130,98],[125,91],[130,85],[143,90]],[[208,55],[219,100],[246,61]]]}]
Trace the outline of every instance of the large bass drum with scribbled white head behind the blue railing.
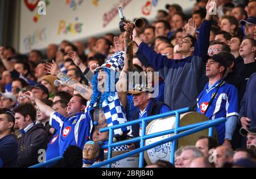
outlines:
[{"label": "large bass drum with scribbled white head behind the blue railing", "polygon": [[[180,126],[188,126],[189,124],[195,124],[199,122],[204,122],[209,120],[207,116],[197,113],[197,112],[188,112],[180,115]],[[165,130],[170,130],[175,127],[175,115],[170,116],[168,118],[160,118],[153,120],[147,125],[146,128],[146,134],[154,134],[156,132],[161,132]],[[197,132],[192,135],[185,136],[183,138],[180,138],[177,143],[177,148],[180,148],[184,145],[195,145],[197,139],[199,139],[200,136],[208,136],[208,129],[204,131]],[[173,136],[174,134],[159,136],[158,138],[152,138],[147,139],[145,141],[145,145],[150,145],[152,143],[155,143],[156,141],[163,140],[165,138],[168,138],[170,136]],[[216,137],[216,131],[214,128],[214,137]],[[171,157],[171,142],[159,145],[157,147],[148,149],[144,152],[144,159],[146,160],[146,163],[153,164],[157,160],[166,160],[170,161]]]}]

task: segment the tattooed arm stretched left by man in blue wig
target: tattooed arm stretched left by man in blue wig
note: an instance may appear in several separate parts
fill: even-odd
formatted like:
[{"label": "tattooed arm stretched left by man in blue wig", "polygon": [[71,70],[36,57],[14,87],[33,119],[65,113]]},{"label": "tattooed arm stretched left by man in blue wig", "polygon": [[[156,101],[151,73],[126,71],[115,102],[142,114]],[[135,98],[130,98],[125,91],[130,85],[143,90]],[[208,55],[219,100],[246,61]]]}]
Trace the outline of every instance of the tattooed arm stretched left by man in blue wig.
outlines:
[{"label": "tattooed arm stretched left by man in blue wig", "polygon": [[92,96],[92,88],[87,85],[80,84],[80,82],[76,81],[75,79],[67,76],[60,71],[56,73],[56,76],[69,88],[73,88],[77,91],[83,98],[90,101],[90,97]]}]

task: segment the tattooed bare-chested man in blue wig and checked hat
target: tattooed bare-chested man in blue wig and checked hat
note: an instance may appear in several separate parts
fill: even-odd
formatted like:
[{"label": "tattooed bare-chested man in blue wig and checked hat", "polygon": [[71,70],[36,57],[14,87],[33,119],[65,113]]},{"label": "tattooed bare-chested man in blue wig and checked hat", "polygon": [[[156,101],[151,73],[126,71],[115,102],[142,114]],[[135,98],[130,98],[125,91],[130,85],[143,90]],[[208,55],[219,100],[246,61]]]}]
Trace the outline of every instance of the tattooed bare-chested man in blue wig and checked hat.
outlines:
[{"label": "tattooed bare-chested man in blue wig and checked hat", "polygon": [[[72,55],[72,58],[76,57],[75,53],[72,53]],[[125,58],[125,52],[116,52],[105,64],[96,68],[95,75],[92,78],[92,88],[80,84],[78,81],[61,73],[54,61],[53,64],[46,64],[48,72],[56,75],[65,85],[75,89],[82,97],[90,101],[85,109],[85,115],[94,124],[90,134],[90,139],[93,141],[104,141],[107,144],[109,133],[101,133],[100,129],[127,122],[125,116],[127,92],[119,88],[122,86],[121,84],[126,84],[126,78],[123,77],[128,71]],[[118,80],[116,76],[121,70]],[[114,135],[120,136],[123,133],[126,134],[129,130],[130,127],[122,127],[114,130]],[[123,145],[117,148],[127,149],[127,146]]]}]

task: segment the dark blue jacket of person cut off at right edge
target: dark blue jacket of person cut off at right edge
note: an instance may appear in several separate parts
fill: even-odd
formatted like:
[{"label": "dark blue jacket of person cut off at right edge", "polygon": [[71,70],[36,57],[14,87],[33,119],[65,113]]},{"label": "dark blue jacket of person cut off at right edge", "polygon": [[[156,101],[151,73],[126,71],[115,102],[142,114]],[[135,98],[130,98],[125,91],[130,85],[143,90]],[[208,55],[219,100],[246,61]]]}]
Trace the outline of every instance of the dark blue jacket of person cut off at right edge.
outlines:
[{"label": "dark blue jacket of person cut off at right edge", "polygon": [[241,102],[241,110],[239,113],[239,119],[243,116],[251,119],[251,127],[256,127],[256,73],[251,74],[250,79],[247,82],[245,95]]}]

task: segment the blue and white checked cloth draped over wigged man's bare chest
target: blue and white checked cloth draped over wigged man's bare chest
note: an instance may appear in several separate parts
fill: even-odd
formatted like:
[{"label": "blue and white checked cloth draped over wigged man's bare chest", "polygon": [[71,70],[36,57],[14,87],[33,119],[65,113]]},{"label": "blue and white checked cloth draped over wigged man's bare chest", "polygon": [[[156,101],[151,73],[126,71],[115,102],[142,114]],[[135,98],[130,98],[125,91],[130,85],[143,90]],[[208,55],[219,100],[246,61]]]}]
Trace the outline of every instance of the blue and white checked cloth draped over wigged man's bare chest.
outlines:
[{"label": "blue and white checked cloth draped over wigged man's bare chest", "polygon": [[[85,109],[86,117],[89,117],[92,121],[93,121],[92,111],[95,109],[96,105],[97,103],[94,103],[93,106],[90,106],[90,103],[89,103],[89,106],[86,107]],[[121,101],[118,97],[117,92],[115,92],[114,97],[112,96],[108,97],[108,103],[105,101],[102,103],[102,109],[104,111],[106,123],[108,124],[108,127],[127,122],[126,113],[125,113],[125,110],[123,109],[123,106],[121,104]],[[118,128],[114,130],[114,135],[119,136],[121,132],[127,133],[129,130],[130,130],[130,126]]]}]

